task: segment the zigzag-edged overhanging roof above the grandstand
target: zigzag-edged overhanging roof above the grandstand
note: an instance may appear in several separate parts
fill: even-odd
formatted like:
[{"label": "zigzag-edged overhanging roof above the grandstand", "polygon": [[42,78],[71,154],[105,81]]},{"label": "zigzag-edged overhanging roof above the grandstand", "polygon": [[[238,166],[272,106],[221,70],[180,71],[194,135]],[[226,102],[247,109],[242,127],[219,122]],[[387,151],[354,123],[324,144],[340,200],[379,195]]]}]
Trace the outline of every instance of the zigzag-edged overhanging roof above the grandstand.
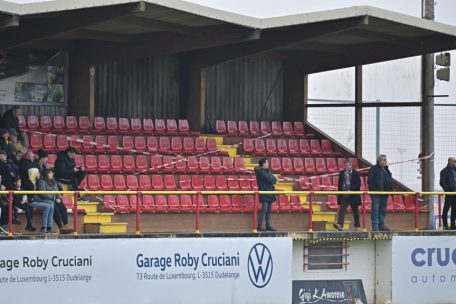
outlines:
[{"label": "zigzag-edged overhanging roof above the grandstand", "polygon": [[261,19],[181,0],[0,0],[0,12],[0,48],[79,49],[94,62],[192,52],[207,66],[263,54],[314,72],[456,48],[455,26],[371,6]]}]

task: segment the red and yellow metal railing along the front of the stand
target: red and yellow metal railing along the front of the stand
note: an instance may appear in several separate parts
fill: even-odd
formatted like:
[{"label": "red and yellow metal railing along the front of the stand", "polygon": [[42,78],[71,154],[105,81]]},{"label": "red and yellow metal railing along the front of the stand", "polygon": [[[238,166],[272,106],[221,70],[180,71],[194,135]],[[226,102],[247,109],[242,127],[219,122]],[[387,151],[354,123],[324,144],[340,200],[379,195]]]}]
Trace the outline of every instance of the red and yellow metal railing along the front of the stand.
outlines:
[{"label": "red and yellow metal railing along the front of the stand", "polygon": [[196,196],[195,204],[195,233],[200,233],[200,214],[201,214],[201,199],[203,195],[254,195],[254,205],[252,209],[253,229],[257,232],[257,211],[259,210],[259,195],[260,194],[275,194],[275,195],[301,195],[306,196],[309,204],[309,223],[308,231],[313,231],[312,210],[315,195],[361,195],[362,197],[362,230],[366,228],[366,198],[368,195],[411,195],[414,196],[414,213],[415,213],[415,231],[419,230],[418,214],[419,214],[419,197],[420,196],[437,196],[438,197],[438,228],[442,229],[442,195],[456,195],[456,192],[384,192],[384,191],[0,191],[0,195],[8,196],[8,236],[13,237],[13,195],[14,194],[61,194],[73,196],[73,235],[78,235],[78,197],[79,195],[136,195],[136,234],[141,234],[141,198],[142,195],[157,195],[157,194],[187,194]]}]

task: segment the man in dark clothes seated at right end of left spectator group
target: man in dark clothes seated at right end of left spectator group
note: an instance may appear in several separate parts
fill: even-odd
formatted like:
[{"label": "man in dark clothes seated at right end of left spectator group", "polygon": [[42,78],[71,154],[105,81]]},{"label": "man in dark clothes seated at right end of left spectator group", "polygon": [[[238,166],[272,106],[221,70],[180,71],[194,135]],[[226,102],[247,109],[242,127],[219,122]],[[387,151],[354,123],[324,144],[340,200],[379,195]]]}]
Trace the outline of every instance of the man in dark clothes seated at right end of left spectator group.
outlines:
[{"label": "man in dark clothes seated at right end of left spectator group", "polygon": [[76,167],[76,149],[69,148],[57,153],[55,161],[55,177],[62,184],[71,185],[74,191],[79,190],[79,185],[86,173],[84,167]]}]

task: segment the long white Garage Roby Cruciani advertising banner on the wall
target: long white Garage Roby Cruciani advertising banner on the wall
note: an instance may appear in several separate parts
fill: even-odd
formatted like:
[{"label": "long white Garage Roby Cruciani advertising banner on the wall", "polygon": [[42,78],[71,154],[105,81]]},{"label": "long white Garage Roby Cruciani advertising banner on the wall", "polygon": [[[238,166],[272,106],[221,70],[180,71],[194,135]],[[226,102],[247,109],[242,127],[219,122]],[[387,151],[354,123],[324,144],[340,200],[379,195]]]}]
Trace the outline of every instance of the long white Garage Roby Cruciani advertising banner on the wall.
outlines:
[{"label": "long white Garage Roby Cruciani advertising banner on the wall", "polygon": [[291,255],[290,238],[3,241],[0,294],[2,303],[290,303]]}]

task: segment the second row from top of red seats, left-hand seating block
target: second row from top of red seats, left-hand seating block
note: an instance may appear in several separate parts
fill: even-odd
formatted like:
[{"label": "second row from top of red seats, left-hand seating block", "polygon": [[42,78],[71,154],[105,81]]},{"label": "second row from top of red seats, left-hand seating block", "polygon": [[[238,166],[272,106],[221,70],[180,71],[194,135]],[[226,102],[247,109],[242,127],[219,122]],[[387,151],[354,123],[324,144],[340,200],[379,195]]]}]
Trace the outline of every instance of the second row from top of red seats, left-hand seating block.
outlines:
[{"label": "second row from top of red seats, left-hand seating block", "polygon": [[192,137],[154,137],[154,136],[129,136],[124,135],[85,135],[82,138],[77,135],[31,134],[30,148],[36,152],[43,149],[48,153],[63,151],[74,147],[81,153],[128,153],[131,150],[138,152],[160,154],[202,154],[217,151],[215,138],[192,138]]}]

